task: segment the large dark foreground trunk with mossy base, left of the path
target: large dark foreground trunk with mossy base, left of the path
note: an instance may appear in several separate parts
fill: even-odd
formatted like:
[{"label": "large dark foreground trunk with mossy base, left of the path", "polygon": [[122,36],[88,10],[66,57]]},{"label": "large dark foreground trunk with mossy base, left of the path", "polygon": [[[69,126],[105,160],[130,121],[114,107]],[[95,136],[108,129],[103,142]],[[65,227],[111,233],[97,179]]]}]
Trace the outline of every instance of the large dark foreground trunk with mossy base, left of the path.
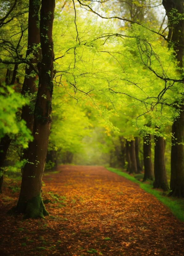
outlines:
[{"label": "large dark foreground trunk with mossy base, left of the path", "polygon": [[34,112],[34,140],[29,143],[28,161],[23,169],[21,191],[15,209],[18,212],[25,213],[24,218],[43,218],[44,215],[48,215],[41,198],[41,185],[51,125],[54,61],[52,26],[55,1],[42,0],[41,3],[40,42],[42,61]]}]

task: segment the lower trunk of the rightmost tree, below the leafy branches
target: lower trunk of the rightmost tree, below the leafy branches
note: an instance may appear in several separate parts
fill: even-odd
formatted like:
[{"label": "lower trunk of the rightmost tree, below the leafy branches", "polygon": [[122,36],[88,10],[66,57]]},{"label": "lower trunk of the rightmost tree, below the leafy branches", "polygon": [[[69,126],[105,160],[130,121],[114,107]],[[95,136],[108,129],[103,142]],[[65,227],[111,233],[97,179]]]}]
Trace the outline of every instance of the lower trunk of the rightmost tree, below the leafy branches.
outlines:
[{"label": "lower trunk of the rightmost tree, below the leafy branches", "polygon": [[171,146],[171,180],[170,196],[184,197],[184,161],[183,161],[183,135],[184,135],[184,111],[180,112],[172,126],[172,146]]}]

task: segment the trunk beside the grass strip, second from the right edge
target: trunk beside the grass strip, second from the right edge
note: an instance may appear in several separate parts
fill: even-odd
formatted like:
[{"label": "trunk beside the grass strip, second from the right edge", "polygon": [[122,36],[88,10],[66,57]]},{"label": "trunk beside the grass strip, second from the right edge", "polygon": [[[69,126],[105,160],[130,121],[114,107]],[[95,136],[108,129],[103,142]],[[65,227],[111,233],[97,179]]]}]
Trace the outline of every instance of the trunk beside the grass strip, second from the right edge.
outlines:
[{"label": "trunk beside the grass strip, second from the right edge", "polygon": [[154,158],[154,175],[153,188],[162,188],[164,191],[169,190],[167,175],[165,169],[165,140],[162,137],[154,136],[155,139],[155,158]]}]

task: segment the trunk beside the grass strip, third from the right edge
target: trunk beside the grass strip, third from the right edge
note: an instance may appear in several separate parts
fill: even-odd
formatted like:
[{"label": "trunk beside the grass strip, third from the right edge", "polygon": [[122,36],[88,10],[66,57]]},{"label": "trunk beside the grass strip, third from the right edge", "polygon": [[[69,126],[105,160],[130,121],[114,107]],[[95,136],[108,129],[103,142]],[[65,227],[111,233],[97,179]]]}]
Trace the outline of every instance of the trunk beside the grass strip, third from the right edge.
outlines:
[{"label": "trunk beside the grass strip, third from the right edge", "polygon": [[144,157],[144,178],[153,180],[153,164],[151,161],[151,134],[143,137],[143,157]]}]

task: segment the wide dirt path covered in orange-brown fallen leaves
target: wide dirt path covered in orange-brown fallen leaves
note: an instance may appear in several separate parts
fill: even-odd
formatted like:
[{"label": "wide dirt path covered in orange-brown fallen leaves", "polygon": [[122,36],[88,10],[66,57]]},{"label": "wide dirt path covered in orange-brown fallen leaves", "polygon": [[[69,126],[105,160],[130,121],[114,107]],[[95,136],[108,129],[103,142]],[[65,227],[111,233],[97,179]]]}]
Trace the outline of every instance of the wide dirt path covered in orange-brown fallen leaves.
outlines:
[{"label": "wide dirt path covered in orange-brown fallen leaves", "polygon": [[136,183],[103,167],[58,170],[43,179],[49,217],[1,216],[0,255],[184,255],[183,223]]}]

